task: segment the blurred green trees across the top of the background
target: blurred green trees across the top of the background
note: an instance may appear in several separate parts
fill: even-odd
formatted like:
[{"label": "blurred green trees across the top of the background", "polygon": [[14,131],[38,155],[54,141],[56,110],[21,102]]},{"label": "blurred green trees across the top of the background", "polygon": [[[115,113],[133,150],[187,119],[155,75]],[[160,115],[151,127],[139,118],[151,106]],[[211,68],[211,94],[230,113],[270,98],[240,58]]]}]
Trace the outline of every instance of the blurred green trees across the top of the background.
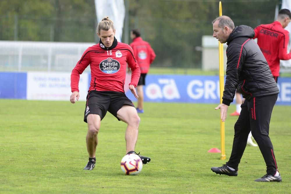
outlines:
[{"label": "blurred green trees across the top of the background", "polygon": [[[218,0],[125,0],[130,31],[157,54],[153,66],[200,68],[201,39],[212,35]],[[221,0],[236,26],[255,28],[274,21],[280,0]],[[94,0],[1,0],[0,40],[98,42]],[[123,40],[125,39],[123,33]],[[127,37],[130,40],[129,37]],[[129,41],[131,42],[131,40]]]}]

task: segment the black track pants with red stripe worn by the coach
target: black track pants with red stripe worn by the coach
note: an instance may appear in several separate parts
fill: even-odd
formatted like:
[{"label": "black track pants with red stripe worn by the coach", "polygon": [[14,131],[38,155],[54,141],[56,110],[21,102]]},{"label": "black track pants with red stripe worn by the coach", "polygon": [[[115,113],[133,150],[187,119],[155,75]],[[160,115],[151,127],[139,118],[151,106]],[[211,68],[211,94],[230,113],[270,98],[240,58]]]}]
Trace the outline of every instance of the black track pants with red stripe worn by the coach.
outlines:
[{"label": "black track pants with red stripe worn by the coach", "polygon": [[271,96],[255,97],[245,100],[242,111],[235,123],[235,135],[233,138],[233,149],[227,165],[238,168],[250,131],[258,143],[260,151],[267,165],[267,173],[275,175],[277,163],[275,159],[272,142],[269,138],[269,124],[273,107],[277,101],[278,94]]}]

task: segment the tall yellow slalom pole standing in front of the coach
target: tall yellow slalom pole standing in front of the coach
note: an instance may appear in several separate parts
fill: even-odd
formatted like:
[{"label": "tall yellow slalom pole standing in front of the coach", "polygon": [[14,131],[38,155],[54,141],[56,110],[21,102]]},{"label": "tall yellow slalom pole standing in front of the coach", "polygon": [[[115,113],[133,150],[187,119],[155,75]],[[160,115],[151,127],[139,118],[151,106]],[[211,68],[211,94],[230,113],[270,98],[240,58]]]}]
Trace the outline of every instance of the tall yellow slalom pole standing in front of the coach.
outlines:
[{"label": "tall yellow slalom pole standing in front of the coach", "polygon": [[[219,1],[219,16],[222,16],[222,5],[221,1]],[[223,44],[220,42],[219,44],[219,90],[220,90],[220,104],[222,103],[222,96],[223,96],[223,90],[224,90],[224,70],[223,70]],[[220,139],[221,139],[221,160],[226,159],[225,155],[225,142],[224,142],[224,122],[220,119]]]}]

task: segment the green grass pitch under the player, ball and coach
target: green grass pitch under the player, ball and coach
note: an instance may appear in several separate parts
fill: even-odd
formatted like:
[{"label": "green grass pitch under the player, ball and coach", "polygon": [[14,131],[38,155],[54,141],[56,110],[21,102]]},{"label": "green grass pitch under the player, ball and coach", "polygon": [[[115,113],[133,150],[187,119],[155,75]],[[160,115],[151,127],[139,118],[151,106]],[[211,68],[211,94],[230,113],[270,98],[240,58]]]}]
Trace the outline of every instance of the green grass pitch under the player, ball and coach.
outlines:
[{"label": "green grass pitch under the player, ball and coach", "polygon": [[225,123],[226,161],[207,153],[220,149],[216,104],[145,103],[136,151],[152,161],[136,176],[120,169],[126,124],[107,113],[97,165],[85,171],[84,104],[0,99],[0,193],[290,193],[291,106],[275,106],[270,123],[283,182],[258,183],[266,172],[258,147],[246,147],[237,177],[210,170],[228,160],[237,119]]}]

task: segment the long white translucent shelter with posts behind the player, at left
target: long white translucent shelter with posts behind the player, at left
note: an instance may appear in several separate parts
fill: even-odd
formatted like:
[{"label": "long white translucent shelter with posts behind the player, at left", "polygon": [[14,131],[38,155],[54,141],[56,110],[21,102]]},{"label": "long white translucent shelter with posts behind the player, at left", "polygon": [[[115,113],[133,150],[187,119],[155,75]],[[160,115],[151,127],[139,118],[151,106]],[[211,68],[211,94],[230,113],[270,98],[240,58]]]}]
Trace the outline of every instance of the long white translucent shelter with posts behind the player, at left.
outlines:
[{"label": "long white translucent shelter with posts behind the player, at left", "polygon": [[0,41],[0,71],[72,71],[92,45],[95,43]]}]

